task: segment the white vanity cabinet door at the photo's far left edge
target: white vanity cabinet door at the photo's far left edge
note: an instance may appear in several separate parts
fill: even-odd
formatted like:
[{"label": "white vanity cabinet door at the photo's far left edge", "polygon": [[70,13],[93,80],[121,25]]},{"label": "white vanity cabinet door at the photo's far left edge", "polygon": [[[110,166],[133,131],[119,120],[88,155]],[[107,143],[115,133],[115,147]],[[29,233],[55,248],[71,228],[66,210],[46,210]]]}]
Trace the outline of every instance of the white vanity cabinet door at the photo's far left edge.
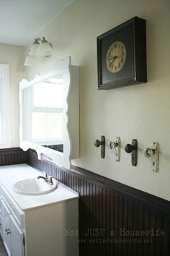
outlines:
[{"label": "white vanity cabinet door at the photo's far left edge", "polygon": [[6,251],[8,252],[8,255],[11,256],[11,231],[9,226],[9,216],[10,212],[7,208],[4,200],[1,200],[1,226],[2,226],[2,238],[4,241],[4,246],[6,248]]}]

